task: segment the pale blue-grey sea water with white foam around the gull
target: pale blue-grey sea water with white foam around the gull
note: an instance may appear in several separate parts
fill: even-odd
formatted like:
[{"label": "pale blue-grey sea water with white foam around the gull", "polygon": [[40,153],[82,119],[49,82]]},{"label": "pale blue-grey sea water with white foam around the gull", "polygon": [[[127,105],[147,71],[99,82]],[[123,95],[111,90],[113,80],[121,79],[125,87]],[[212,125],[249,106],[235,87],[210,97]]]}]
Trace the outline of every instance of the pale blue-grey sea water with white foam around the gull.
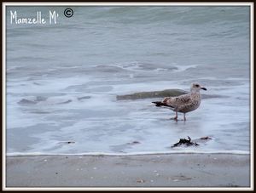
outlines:
[{"label": "pale blue-grey sea water with white foam around the gull", "polygon": [[[9,7],[8,154],[250,150],[249,7]],[[10,24],[10,11],[59,14],[54,25]],[[192,82],[216,95],[187,121],[117,95]],[[183,117],[182,114],[179,115]],[[194,147],[180,138],[212,139]]]}]

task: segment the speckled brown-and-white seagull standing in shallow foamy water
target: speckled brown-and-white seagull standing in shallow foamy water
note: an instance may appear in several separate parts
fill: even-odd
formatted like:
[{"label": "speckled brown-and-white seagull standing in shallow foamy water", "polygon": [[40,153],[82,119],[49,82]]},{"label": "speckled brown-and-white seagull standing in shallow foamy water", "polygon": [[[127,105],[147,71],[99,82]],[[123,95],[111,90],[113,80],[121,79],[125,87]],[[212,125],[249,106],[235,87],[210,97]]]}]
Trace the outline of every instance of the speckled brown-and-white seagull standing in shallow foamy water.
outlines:
[{"label": "speckled brown-and-white seagull standing in shallow foamy water", "polygon": [[154,101],[155,106],[169,107],[172,111],[176,112],[176,116],[172,119],[177,121],[177,112],[182,112],[184,121],[186,121],[186,113],[195,111],[201,104],[200,90],[207,90],[201,87],[199,83],[192,83],[189,94],[183,94],[177,97],[166,97],[162,101]]}]

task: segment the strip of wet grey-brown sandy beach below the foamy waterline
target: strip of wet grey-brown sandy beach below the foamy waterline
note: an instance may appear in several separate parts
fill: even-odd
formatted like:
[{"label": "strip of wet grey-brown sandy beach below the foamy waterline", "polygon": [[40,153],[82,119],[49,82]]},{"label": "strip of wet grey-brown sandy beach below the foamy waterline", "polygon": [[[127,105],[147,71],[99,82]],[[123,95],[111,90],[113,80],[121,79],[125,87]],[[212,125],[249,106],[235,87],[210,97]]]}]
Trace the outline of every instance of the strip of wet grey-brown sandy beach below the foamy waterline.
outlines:
[{"label": "strip of wet grey-brown sandy beach below the foamy waterline", "polygon": [[250,187],[250,156],[7,156],[6,187]]}]

